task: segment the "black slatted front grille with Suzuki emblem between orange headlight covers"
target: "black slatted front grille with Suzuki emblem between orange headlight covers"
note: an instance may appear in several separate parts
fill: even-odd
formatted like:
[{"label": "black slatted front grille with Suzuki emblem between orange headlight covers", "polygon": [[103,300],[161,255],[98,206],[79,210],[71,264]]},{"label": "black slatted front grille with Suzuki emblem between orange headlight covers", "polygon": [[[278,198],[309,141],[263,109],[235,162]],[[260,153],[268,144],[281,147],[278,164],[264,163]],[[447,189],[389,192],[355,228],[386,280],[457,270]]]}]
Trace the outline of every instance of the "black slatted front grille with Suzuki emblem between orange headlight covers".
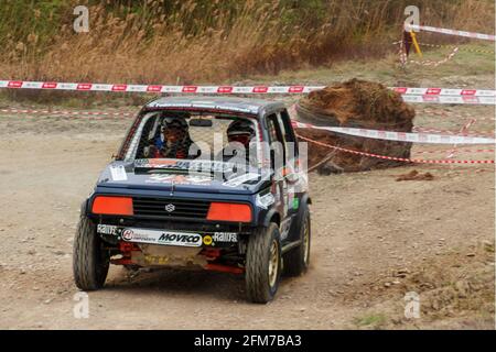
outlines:
[{"label": "black slatted front grille with Suzuki emblem between orange headlight covers", "polygon": [[134,216],[161,219],[206,219],[211,202],[192,199],[133,197],[132,206]]}]

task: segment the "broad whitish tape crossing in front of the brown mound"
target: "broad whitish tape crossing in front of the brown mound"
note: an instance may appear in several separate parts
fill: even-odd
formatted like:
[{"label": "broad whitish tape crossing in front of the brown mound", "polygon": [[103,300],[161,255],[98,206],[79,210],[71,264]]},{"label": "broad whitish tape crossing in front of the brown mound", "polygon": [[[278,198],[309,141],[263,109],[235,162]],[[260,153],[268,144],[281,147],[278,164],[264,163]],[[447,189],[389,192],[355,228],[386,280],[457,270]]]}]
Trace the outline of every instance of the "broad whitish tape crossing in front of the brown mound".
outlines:
[{"label": "broad whitish tape crossing in front of the brown mound", "polygon": [[341,127],[319,127],[310,123],[302,123],[299,121],[292,121],[293,127],[299,129],[314,129],[323,130],[336,133],[343,133],[354,136],[363,136],[375,140],[397,141],[397,142],[412,142],[412,143],[427,143],[427,144],[495,144],[494,139],[488,138],[475,138],[466,135],[443,135],[443,134],[430,134],[430,133],[411,133],[411,132],[392,132],[380,130],[366,130],[354,128],[341,128]]}]

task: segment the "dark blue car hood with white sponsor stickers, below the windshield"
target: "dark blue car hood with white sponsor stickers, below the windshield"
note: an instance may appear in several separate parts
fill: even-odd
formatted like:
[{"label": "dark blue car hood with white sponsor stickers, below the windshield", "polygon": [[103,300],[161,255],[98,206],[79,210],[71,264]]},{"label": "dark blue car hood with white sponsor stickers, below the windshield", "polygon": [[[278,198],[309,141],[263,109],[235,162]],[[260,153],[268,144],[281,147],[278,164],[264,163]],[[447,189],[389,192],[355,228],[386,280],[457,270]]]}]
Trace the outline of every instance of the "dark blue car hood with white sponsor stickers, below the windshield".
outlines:
[{"label": "dark blue car hood with white sponsor stickers, below the windshield", "polygon": [[[170,163],[170,161],[169,161]],[[148,166],[148,167],[147,167]],[[145,165],[136,162],[112,162],[100,174],[97,186],[111,188],[158,189],[208,194],[255,194],[267,187],[270,177],[260,169],[223,179],[211,173],[193,173]]]}]

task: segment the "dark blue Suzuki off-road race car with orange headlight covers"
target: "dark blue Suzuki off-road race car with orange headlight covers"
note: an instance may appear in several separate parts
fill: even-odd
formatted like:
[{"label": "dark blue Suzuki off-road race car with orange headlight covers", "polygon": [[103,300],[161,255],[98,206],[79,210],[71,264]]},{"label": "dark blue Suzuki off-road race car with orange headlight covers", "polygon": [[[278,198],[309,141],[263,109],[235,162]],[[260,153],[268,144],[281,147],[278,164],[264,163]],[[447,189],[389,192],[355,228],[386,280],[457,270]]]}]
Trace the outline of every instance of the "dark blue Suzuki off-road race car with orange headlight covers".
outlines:
[{"label": "dark blue Suzuki off-road race car with orange headlight covers", "polygon": [[197,267],[244,274],[248,299],[270,301],[282,272],[309,267],[311,200],[301,151],[281,102],[147,103],[82,205],[76,285],[101,288],[109,264]]}]

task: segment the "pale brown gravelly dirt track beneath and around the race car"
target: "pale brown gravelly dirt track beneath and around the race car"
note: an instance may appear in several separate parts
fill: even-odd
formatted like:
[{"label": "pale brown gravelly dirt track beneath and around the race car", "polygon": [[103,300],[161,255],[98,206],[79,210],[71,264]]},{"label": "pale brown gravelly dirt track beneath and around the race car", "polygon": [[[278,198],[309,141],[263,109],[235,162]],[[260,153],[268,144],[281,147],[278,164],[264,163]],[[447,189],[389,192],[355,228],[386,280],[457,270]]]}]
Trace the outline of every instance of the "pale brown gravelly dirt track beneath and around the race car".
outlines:
[{"label": "pale brown gravelly dirt track beneath and around the race car", "polygon": [[[432,109],[459,121],[450,108]],[[267,306],[245,302],[236,276],[128,277],[112,267],[107,287],[89,294],[89,318],[75,319],[71,253],[79,204],[128,124],[0,117],[0,328],[494,329],[488,166],[416,166],[434,175],[420,182],[396,182],[412,166],[312,174],[312,267],[284,279]],[[398,270],[405,277],[391,276]],[[413,321],[403,317],[403,295],[412,289],[422,305]]]}]

